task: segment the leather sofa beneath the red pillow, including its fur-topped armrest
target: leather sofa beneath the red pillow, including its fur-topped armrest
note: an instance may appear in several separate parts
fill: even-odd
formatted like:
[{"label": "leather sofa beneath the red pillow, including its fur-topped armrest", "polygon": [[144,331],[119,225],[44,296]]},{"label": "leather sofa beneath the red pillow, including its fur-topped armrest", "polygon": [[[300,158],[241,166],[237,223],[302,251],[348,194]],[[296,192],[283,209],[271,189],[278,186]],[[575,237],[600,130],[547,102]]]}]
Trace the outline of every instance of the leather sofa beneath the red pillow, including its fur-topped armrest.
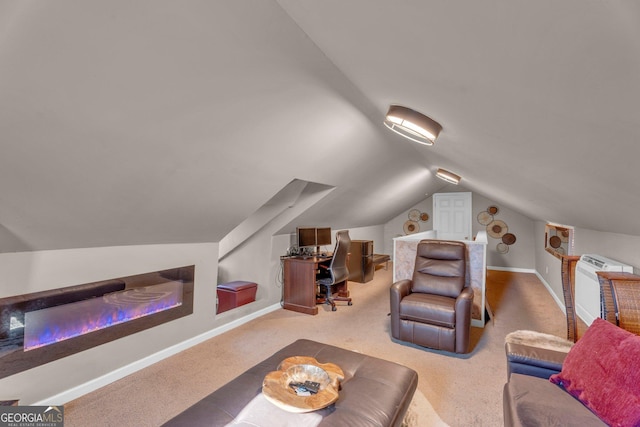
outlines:
[{"label": "leather sofa beneath the red pillow, including its fur-topped armrest", "polygon": [[568,340],[532,331],[507,335],[505,427],[606,426],[579,400],[549,381],[551,375],[562,370],[572,345]]}]

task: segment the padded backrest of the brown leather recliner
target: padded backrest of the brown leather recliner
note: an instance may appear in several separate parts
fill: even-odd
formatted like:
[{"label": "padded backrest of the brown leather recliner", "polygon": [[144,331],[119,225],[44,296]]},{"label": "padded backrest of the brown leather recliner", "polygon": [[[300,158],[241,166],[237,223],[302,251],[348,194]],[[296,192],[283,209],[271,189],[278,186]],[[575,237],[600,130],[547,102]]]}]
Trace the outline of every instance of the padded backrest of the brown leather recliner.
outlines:
[{"label": "padded backrest of the brown leather recliner", "polygon": [[456,298],[465,284],[466,245],[452,240],[422,240],[416,251],[411,292]]}]

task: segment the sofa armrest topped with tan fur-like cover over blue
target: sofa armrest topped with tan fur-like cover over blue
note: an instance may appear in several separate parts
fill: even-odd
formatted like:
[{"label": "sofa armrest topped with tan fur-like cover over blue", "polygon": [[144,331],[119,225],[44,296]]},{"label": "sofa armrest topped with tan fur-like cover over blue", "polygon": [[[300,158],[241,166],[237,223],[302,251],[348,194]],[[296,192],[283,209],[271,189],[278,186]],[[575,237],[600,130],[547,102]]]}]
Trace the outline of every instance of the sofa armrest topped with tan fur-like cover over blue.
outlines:
[{"label": "sofa armrest topped with tan fur-like cover over blue", "polygon": [[535,331],[515,331],[505,338],[507,379],[512,373],[549,378],[562,370],[573,342]]}]

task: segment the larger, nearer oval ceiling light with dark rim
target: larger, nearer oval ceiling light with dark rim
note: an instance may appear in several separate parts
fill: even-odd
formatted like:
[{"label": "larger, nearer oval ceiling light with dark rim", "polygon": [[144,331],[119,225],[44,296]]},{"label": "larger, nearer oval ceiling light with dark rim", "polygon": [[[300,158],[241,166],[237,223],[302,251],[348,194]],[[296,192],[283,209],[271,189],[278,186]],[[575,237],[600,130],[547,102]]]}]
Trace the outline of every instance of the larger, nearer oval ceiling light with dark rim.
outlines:
[{"label": "larger, nearer oval ceiling light with dark rim", "polygon": [[384,125],[395,133],[424,145],[433,145],[442,130],[438,122],[400,105],[389,107]]}]

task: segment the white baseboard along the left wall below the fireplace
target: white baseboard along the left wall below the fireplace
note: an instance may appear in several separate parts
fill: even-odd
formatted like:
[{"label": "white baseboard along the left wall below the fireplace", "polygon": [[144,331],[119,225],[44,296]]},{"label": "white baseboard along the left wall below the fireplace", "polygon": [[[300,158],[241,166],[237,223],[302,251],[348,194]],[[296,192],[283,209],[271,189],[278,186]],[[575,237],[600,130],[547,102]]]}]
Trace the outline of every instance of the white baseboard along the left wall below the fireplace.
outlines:
[{"label": "white baseboard along the left wall below the fireplace", "polygon": [[188,340],[185,340],[171,347],[167,347],[164,350],[161,350],[143,359],[136,360],[133,363],[123,366],[122,368],[116,369],[115,371],[111,371],[108,374],[102,375],[101,377],[95,378],[77,387],[71,388],[69,390],[65,390],[62,393],[58,393],[55,396],[48,397],[39,402],[35,402],[32,405],[36,405],[36,406],[62,405],[66,402],[70,402],[87,393],[95,391],[101,387],[111,384],[114,381],[124,378],[127,375],[133,374],[134,372],[137,372],[141,369],[151,366],[156,362],[166,359],[167,357],[180,353],[181,351],[184,351],[190,347],[193,347],[194,345],[200,344],[201,342],[204,342],[224,332],[230,331],[231,329],[237,328],[238,326],[243,325],[253,319],[256,319],[267,313],[271,313],[272,311],[279,310],[281,308],[282,307],[280,306],[280,303],[271,305],[269,307],[265,307],[254,313],[248,314],[240,319],[233,320],[229,323],[221,325],[220,327],[207,331],[203,334],[197,335],[193,338],[189,338]]}]

